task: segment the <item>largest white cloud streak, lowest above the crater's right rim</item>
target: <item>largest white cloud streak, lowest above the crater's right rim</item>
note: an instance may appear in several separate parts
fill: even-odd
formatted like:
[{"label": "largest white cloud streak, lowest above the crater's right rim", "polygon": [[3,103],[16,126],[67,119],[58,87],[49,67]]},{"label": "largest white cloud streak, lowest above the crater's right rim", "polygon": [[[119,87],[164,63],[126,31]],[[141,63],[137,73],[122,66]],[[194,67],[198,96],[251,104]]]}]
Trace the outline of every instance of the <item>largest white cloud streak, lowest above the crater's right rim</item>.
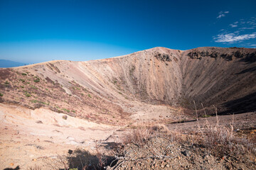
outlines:
[{"label": "largest white cloud streak, lowest above the crater's right rim", "polygon": [[215,42],[236,42],[241,40],[249,40],[252,38],[256,38],[256,33],[244,35],[235,35],[234,33],[219,34],[213,39]]}]

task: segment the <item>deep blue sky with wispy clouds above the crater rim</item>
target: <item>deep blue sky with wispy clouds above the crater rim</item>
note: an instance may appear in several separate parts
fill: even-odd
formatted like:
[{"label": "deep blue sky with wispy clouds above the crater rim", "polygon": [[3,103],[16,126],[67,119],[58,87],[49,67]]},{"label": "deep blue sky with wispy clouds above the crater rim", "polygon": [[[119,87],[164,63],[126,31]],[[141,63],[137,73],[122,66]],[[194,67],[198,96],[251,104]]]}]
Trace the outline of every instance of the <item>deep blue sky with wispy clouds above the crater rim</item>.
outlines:
[{"label": "deep blue sky with wispy clouds above the crater rim", "polygon": [[256,1],[0,0],[0,59],[96,60],[151,47],[256,47]]}]

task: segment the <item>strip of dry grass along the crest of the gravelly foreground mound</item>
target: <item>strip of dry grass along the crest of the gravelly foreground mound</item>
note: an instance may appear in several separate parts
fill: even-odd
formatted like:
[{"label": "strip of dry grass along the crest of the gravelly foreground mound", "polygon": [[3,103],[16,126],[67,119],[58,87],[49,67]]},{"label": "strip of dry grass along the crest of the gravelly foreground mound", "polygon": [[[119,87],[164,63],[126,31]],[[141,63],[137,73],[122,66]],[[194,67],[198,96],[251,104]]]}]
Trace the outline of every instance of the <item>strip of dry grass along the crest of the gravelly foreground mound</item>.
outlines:
[{"label": "strip of dry grass along the crest of the gravelly foreground mound", "polygon": [[133,127],[129,134],[123,137],[123,143],[132,143],[139,147],[144,146],[152,137],[164,137],[171,142],[186,142],[189,145],[206,147],[209,151],[221,154],[224,152],[255,152],[255,142],[247,137],[240,137],[235,134],[233,122],[230,125],[219,125],[217,109],[216,123],[206,122],[200,124],[197,119],[198,128],[190,134],[175,130],[170,131],[165,125],[138,125]]}]

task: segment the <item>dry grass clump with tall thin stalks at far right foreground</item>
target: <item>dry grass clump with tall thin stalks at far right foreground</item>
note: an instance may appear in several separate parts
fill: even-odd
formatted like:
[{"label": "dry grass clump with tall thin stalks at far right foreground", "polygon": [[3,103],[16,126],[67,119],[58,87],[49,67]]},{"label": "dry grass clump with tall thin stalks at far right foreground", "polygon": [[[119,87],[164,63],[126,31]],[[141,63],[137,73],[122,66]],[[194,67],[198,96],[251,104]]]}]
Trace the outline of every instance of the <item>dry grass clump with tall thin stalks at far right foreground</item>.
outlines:
[{"label": "dry grass clump with tall thin stalks at far right foreground", "polygon": [[[203,104],[202,104],[203,106]],[[195,106],[196,108],[196,106]],[[253,152],[253,147],[255,143],[249,140],[247,137],[239,137],[234,132],[234,115],[233,121],[229,125],[220,125],[218,120],[218,111],[215,106],[216,123],[210,124],[206,118],[206,122],[200,125],[198,118],[198,130],[195,132],[198,135],[193,135],[193,140],[202,144],[208,149],[220,150],[221,152]],[[204,111],[206,115],[206,111]],[[196,111],[196,115],[197,111]]]}]

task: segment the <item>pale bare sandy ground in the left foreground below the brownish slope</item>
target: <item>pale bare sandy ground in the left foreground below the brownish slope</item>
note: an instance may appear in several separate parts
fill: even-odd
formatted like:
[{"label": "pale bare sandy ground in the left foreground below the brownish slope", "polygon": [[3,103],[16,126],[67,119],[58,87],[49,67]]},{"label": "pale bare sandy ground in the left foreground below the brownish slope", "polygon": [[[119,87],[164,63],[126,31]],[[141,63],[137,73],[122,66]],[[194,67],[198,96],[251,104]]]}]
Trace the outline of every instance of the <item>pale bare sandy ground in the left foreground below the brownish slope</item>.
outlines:
[{"label": "pale bare sandy ground in the left foreground below the brownish slope", "polygon": [[0,103],[0,169],[45,165],[46,157],[54,161],[58,155],[67,155],[68,149],[94,152],[96,140],[106,139],[119,128],[68,115],[65,120],[63,115]]}]

